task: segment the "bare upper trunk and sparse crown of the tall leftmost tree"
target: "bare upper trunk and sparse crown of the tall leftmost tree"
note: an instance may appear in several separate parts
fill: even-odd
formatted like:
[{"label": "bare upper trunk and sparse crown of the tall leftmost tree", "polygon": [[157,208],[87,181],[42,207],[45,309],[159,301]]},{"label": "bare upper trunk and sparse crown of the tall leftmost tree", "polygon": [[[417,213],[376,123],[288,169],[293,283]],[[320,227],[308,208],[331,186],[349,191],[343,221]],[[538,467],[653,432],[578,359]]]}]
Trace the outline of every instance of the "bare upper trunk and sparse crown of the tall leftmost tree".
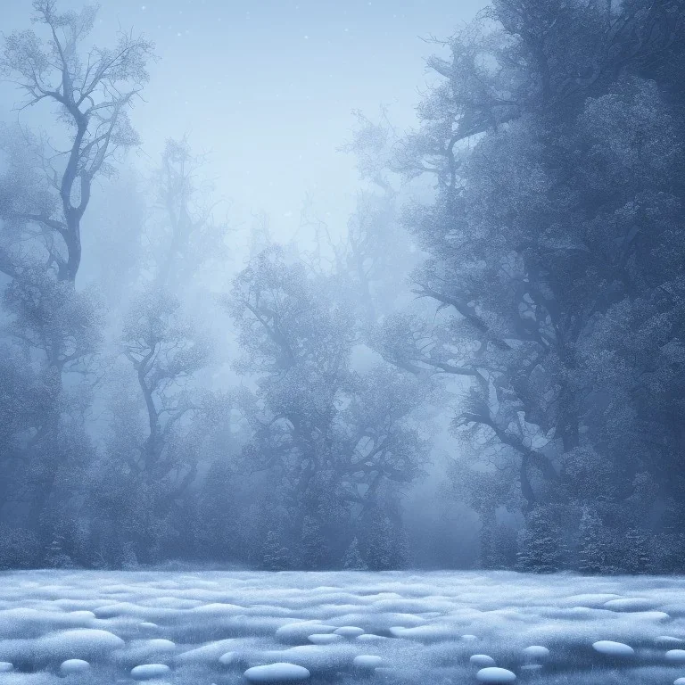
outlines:
[{"label": "bare upper trunk and sparse crown of the tall leftmost tree", "polygon": [[[81,262],[81,219],[98,175],[110,175],[117,154],[138,144],[128,112],[148,79],[153,45],[122,32],[114,47],[87,47],[95,6],[59,12],[54,0],[35,0],[34,30],[5,38],[0,70],[24,95],[21,107],[52,103],[66,130],[66,151],[26,136],[44,172],[44,202],[13,202],[7,219],[36,227],[57,277],[71,283]],[[27,188],[28,190],[28,188]]]}]

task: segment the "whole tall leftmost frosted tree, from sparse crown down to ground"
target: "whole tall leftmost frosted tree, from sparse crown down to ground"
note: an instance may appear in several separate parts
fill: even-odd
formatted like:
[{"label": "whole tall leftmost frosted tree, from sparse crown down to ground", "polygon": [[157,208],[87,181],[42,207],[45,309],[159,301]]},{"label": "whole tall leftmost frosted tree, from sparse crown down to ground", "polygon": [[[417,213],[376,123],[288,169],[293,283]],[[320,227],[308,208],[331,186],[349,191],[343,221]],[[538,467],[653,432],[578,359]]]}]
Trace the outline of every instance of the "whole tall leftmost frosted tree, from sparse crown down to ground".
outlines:
[{"label": "whole tall leftmost frosted tree, from sparse crown down to ground", "polygon": [[7,342],[44,401],[41,412],[24,415],[4,469],[7,491],[21,491],[23,501],[2,505],[8,518],[23,511],[24,525],[44,539],[63,534],[72,553],[77,501],[95,460],[85,423],[103,326],[94,293],[75,289],[82,220],[97,178],[110,177],[138,142],[128,111],[147,80],[152,45],[123,32],[112,48],[89,45],[94,7],[59,12],[52,0],[36,0],[33,8],[37,29],[4,37],[0,73],[21,93],[20,117],[49,106],[54,120],[50,137],[21,123],[2,131],[0,270],[11,278]]}]

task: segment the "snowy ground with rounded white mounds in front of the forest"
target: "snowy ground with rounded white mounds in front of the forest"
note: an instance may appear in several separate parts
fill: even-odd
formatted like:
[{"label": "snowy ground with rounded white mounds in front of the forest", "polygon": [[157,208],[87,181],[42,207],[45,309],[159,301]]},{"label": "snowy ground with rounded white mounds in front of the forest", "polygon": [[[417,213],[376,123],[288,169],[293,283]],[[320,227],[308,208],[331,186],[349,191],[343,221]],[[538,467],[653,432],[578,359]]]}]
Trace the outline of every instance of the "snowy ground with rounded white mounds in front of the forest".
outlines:
[{"label": "snowy ground with rounded white mounds in front of the forest", "polygon": [[682,640],[685,578],[0,574],[0,685],[670,685]]}]

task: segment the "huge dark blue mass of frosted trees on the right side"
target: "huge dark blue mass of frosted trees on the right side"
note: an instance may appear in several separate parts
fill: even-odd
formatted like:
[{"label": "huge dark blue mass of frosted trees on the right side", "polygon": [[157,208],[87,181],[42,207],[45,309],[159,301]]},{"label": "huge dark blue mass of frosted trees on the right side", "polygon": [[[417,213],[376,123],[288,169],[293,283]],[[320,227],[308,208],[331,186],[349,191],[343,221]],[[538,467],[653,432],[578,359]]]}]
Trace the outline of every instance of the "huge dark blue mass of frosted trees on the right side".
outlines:
[{"label": "huge dark blue mass of frosted trees on the right side", "polygon": [[483,565],[508,518],[524,568],[643,573],[685,520],[683,12],[498,0],[429,62],[394,164],[438,182],[405,216],[434,316],[379,342],[460,388],[452,475]]}]

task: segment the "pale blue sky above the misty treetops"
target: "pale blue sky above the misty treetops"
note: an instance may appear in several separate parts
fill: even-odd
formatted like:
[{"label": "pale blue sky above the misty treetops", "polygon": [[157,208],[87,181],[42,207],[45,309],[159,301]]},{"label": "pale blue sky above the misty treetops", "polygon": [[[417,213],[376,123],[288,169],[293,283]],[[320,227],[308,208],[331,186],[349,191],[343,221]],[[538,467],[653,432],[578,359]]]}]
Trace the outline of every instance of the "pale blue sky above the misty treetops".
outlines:
[{"label": "pale blue sky above the misty treetops", "polygon": [[[4,32],[29,25],[30,0],[0,4]],[[482,5],[103,0],[95,38],[105,43],[119,26],[133,27],[157,45],[161,60],[134,114],[147,163],[166,137],[187,132],[210,153],[212,176],[236,211],[267,210],[287,232],[307,192],[344,216],[356,178],[353,160],[336,148],[349,136],[351,111],[373,116],[384,103],[400,128],[409,127],[435,47],[421,37],[450,35]],[[6,119],[11,91],[0,93]]]}]

